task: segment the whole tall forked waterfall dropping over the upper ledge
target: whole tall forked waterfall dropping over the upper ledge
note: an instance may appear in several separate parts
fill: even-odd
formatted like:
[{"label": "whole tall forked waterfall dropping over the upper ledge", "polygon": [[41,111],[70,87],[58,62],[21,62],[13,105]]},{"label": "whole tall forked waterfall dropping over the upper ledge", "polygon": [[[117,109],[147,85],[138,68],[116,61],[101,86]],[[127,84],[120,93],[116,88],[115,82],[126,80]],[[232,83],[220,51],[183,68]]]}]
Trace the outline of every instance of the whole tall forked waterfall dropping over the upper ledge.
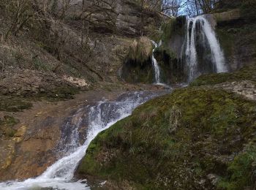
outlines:
[{"label": "whole tall forked waterfall dropping over the upper ledge", "polygon": [[[200,44],[200,45],[199,45]],[[182,57],[184,57],[187,63],[187,75],[189,82],[195,79],[195,77],[203,74],[198,65],[198,46],[201,50],[211,51],[211,72],[227,72],[225,66],[225,58],[222,49],[219,45],[218,39],[211,27],[211,24],[206,19],[205,15],[197,16],[196,18],[187,18],[187,34],[183,45],[184,50],[181,51]],[[202,55],[200,55],[202,56]],[[207,61],[203,60],[204,64]]]}]

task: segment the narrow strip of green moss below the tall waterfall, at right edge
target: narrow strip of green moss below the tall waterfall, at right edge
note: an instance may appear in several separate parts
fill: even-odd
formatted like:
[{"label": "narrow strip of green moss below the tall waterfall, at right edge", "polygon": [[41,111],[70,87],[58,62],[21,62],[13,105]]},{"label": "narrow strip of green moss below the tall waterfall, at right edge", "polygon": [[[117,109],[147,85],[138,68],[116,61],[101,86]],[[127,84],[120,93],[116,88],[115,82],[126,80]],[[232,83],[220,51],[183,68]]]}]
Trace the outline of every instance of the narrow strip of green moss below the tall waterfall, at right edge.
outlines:
[{"label": "narrow strip of green moss below the tall waterfall, at right edge", "polygon": [[256,65],[244,66],[236,72],[219,73],[211,75],[202,75],[195,79],[189,86],[206,86],[219,83],[239,81],[239,80],[256,80]]}]

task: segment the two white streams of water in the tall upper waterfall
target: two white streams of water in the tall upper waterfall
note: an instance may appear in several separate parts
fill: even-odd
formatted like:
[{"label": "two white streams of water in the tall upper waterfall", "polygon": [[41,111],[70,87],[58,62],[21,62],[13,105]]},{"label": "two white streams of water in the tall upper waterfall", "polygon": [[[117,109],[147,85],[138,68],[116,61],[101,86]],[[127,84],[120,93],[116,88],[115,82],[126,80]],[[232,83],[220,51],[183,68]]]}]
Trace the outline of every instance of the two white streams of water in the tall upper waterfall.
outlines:
[{"label": "two white streams of water in the tall upper waterfall", "polygon": [[[186,61],[189,67],[189,82],[197,77],[197,51],[196,51],[196,24],[200,23],[203,37],[206,37],[208,46],[211,49],[211,60],[216,67],[217,72],[227,72],[225,66],[225,58],[222,49],[219,45],[214,29],[206,19],[205,15],[197,16],[196,18],[187,18],[187,43],[186,43]],[[192,26],[192,27],[191,27]],[[191,34],[189,35],[189,31]]]}]

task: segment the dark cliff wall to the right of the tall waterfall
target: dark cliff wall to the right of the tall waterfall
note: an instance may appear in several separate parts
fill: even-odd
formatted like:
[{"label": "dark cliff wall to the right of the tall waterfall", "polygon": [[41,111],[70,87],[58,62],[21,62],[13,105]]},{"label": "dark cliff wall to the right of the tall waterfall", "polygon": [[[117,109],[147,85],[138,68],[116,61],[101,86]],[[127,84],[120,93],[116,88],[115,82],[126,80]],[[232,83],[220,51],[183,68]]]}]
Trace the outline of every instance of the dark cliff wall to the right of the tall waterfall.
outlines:
[{"label": "dark cliff wall to the right of the tall waterfall", "polygon": [[252,64],[256,60],[256,23],[241,15],[237,9],[214,15],[217,35],[230,71]]}]

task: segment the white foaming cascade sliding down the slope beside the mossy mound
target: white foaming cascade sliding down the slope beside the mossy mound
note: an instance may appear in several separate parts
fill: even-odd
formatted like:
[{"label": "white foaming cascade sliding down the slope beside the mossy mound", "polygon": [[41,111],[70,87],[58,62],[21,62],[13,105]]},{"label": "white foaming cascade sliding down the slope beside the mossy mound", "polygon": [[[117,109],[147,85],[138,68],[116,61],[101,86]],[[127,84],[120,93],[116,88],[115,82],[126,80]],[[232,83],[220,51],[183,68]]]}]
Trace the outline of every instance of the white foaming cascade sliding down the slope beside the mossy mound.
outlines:
[{"label": "white foaming cascade sliding down the slope beside the mossy mound", "polygon": [[[8,181],[0,183],[1,190],[26,190],[26,189],[66,189],[66,190],[84,190],[90,189],[86,184],[86,180],[73,180],[75,169],[80,159],[86,155],[86,149],[89,147],[91,140],[105,129],[108,129],[117,121],[127,117],[132,110],[138,105],[152,99],[156,96],[165,94],[166,91],[158,92],[141,91],[134,93],[126,93],[116,99],[116,101],[99,102],[97,105],[86,107],[86,110],[80,109],[73,117],[81,117],[82,114],[88,114],[89,129],[86,135],[86,141],[83,145],[79,145],[78,128],[82,121],[78,119],[75,129],[69,135],[67,146],[60,151],[67,151],[69,155],[64,156],[54,163],[52,166],[37,178],[29,178],[24,181]],[[68,126],[68,125],[67,125]],[[64,137],[65,140],[66,137]]]}]

